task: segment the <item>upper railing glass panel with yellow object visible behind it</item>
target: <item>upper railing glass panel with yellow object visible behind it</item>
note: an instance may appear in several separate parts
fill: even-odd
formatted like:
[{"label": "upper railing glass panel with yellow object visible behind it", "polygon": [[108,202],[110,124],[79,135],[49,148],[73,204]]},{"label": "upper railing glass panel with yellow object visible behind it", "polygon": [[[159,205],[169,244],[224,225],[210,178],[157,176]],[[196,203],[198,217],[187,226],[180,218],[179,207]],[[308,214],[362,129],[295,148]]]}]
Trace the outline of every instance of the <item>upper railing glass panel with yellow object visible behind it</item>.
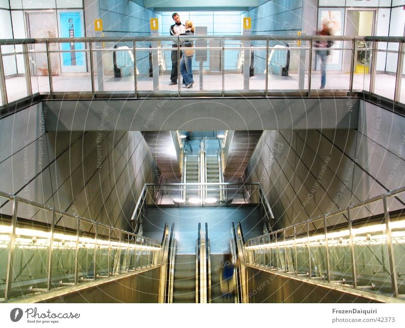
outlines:
[{"label": "upper railing glass panel with yellow object visible behind it", "polygon": [[353,61],[353,90],[370,91],[370,76],[373,44],[371,41],[356,41]]}]

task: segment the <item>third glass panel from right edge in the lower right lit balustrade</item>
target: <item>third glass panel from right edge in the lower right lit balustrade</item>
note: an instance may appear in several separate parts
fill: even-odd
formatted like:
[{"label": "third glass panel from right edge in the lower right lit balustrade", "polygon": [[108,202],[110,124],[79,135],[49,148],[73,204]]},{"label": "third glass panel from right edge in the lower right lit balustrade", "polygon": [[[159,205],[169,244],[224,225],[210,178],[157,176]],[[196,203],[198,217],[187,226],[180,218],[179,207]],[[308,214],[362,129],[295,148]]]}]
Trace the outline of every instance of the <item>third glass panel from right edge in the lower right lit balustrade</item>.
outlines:
[{"label": "third glass panel from right edge in the lower right lit balustrade", "polygon": [[[333,223],[332,223],[333,222]],[[336,283],[352,283],[352,256],[349,225],[342,213],[327,217],[330,280]],[[335,228],[339,226],[339,228]]]}]

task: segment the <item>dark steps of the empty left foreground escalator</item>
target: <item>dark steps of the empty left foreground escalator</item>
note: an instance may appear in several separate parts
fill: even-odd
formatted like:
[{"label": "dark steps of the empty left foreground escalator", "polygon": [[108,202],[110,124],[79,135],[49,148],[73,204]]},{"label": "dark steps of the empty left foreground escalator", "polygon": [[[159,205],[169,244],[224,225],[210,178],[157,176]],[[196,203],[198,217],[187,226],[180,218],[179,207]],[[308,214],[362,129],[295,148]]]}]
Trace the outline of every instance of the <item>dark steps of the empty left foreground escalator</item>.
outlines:
[{"label": "dark steps of the empty left foreground escalator", "polygon": [[195,255],[176,255],[173,303],[195,303]]}]

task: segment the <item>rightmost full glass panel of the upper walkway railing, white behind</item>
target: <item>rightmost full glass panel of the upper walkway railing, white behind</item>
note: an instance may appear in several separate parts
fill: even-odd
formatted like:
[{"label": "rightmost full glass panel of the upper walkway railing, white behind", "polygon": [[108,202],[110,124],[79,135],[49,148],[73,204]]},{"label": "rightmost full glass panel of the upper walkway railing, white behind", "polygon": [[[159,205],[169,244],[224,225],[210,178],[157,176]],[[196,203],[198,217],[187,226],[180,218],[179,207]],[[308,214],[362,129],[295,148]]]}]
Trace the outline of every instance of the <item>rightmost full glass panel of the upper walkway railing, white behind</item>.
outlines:
[{"label": "rightmost full glass panel of the upper walkway railing, white behind", "polygon": [[398,62],[398,43],[378,42],[377,48],[376,78],[372,92],[393,100]]}]

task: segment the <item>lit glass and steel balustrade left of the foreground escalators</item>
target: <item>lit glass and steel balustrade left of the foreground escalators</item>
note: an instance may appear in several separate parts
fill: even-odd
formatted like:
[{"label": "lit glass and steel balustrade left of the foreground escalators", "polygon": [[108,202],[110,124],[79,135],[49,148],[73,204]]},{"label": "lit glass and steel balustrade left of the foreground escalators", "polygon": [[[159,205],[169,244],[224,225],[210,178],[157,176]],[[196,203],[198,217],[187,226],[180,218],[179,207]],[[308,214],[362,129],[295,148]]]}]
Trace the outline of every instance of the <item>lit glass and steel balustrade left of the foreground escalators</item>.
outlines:
[{"label": "lit glass and steel balustrade left of the foreground escalators", "polygon": [[0,205],[2,301],[161,263],[161,245],[135,233],[2,192]]}]

